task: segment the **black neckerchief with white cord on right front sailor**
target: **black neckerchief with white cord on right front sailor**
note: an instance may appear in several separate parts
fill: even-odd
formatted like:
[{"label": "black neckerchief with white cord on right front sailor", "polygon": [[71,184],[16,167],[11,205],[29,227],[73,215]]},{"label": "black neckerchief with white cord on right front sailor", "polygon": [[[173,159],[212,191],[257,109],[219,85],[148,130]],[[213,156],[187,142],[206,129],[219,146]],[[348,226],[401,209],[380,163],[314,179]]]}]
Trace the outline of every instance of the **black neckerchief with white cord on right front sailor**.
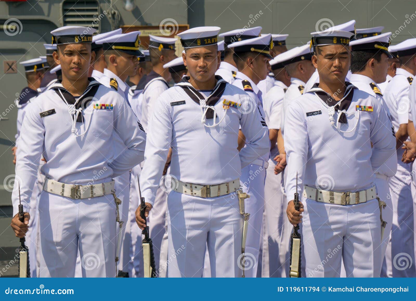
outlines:
[{"label": "black neckerchief with white cord on right front sailor", "polygon": [[[354,88],[357,89],[357,87],[355,87],[350,82],[345,82],[345,85],[347,87],[345,89],[344,97],[339,101],[334,100],[334,98],[332,98],[332,96],[330,96],[327,92],[325,92],[324,90],[319,88],[318,87],[319,86],[318,82],[315,83],[312,86],[312,89],[309,90],[308,92],[314,92],[314,94],[317,95],[325,104],[327,104],[328,107],[334,106],[334,109],[337,112],[342,111],[342,110],[347,111],[347,109],[349,108],[349,106],[352,102],[352,97],[354,95]],[[347,123],[347,116],[344,114],[344,112],[342,112],[339,115],[338,120],[339,120],[340,123]]]}]

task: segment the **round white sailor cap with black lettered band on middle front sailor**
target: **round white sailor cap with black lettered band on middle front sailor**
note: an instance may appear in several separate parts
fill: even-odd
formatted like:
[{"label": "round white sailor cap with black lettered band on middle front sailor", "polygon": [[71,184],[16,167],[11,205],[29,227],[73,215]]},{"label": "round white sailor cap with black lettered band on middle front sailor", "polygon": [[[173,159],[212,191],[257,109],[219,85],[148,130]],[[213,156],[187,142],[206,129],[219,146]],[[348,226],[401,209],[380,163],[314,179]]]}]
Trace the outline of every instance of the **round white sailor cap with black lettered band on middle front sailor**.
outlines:
[{"label": "round white sailor cap with black lettered band on middle front sailor", "polygon": [[194,27],[178,33],[184,49],[215,45],[218,43],[218,26]]}]

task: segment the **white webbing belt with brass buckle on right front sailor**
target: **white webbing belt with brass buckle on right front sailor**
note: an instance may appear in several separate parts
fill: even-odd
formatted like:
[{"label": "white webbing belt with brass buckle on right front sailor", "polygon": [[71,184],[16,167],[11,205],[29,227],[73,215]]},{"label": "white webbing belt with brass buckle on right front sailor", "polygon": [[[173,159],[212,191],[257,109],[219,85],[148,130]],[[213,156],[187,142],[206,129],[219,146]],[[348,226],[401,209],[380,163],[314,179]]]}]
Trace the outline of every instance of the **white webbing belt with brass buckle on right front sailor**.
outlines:
[{"label": "white webbing belt with brass buckle on right front sailor", "polygon": [[377,197],[376,187],[357,192],[334,192],[316,189],[306,186],[303,189],[303,196],[307,199],[337,205],[354,205],[364,203]]}]

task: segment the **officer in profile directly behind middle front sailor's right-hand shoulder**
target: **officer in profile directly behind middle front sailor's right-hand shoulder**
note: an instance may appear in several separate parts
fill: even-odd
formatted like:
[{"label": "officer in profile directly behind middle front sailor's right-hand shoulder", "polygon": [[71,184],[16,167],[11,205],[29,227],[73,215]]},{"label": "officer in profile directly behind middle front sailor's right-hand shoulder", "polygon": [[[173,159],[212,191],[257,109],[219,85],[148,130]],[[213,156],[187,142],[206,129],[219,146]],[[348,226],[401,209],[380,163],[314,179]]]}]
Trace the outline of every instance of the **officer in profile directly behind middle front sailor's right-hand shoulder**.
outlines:
[{"label": "officer in profile directly behind middle front sailor's right-hand shoulder", "polygon": [[[256,107],[248,110],[258,110],[262,122],[266,124],[262,108],[262,93],[257,84],[267,77],[269,72],[270,49],[273,47],[272,36],[263,35],[253,39],[242,40],[228,45],[234,48],[234,61],[238,72],[233,85],[247,92],[255,100]],[[244,134],[240,133],[239,148],[244,146]],[[246,271],[247,277],[256,277],[260,244],[262,242],[262,221],[264,211],[264,184],[270,152],[259,156],[253,162],[241,169],[240,183],[243,191],[250,195],[245,200],[245,210],[250,214],[247,232],[246,251],[250,254],[253,264]]]}]

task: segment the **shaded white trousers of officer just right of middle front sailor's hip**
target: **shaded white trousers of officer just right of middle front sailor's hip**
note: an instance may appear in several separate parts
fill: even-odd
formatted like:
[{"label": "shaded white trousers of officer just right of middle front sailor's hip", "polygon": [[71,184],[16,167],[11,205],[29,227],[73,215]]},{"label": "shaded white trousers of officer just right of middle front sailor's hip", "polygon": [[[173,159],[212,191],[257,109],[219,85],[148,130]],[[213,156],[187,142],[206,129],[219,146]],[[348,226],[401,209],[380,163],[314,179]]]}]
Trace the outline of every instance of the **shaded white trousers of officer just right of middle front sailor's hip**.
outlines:
[{"label": "shaded white trousers of officer just right of middle front sailor's hip", "polygon": [[265,177],[266,169],[260,165],[248,164],[241,169],[240,184],[243,192],[250,195],[249,199],[245,199],[245,212],[250,213],[245,244],[245,277],[257,276],[260,243],[262,242]]}]

